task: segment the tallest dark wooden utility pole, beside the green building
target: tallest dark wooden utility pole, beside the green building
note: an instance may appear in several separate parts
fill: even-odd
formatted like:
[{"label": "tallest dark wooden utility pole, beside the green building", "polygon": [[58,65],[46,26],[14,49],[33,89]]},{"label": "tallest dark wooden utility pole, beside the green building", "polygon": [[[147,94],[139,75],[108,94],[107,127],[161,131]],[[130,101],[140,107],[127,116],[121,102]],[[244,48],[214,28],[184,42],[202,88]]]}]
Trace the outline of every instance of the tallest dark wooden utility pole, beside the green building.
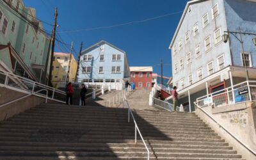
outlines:
[{"label": "tallest dark wooden utility pole, beside the green building", "polygon": [[54,45],[55,45],[55,35],[56,35],[56,26],[57,26],[57,16],[58,16],[58,8],[55,8],[54,12],[54,25],[52,29],[52,51],[51,51],[51,61],[50,61],[50,70],[49,70],[49,81],[48,86],[52,86],[52,61],[54,56]]}]

